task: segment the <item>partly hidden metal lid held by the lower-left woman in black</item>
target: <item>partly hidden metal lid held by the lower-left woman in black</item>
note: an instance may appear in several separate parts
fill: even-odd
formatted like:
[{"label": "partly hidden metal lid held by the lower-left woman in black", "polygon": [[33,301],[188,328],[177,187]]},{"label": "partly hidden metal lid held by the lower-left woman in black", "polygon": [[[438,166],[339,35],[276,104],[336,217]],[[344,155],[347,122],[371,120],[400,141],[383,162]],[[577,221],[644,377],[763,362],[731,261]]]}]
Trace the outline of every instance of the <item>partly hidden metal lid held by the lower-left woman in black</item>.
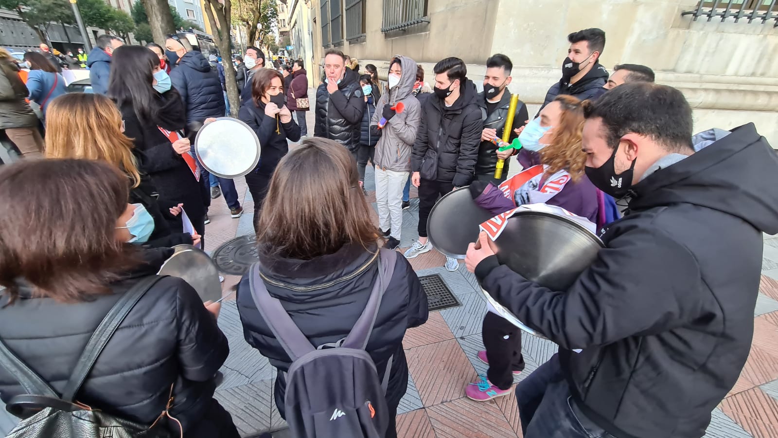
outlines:
[{"label": "partly hidden metal lid held by the lower-left woman in black", "polygon": [[219,270],[208,254],[192,245],[175,245],[173,249],[173,256],[165,261],[157,274],[182,278],[195,288],[203,302],[222,298]]}]

